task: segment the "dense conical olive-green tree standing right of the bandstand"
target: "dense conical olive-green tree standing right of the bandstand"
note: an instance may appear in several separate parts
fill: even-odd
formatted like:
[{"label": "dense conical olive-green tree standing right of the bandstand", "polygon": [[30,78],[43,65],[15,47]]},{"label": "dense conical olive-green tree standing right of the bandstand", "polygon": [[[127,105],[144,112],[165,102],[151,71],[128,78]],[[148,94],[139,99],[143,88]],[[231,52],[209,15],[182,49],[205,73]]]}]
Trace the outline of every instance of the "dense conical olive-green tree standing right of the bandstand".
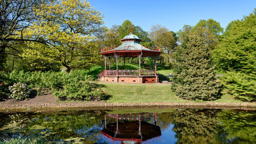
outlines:
[{"label": "dense conical olive-green tree standing right of the bandstand", "polygon": [[216,74],[209,48],[197,35],[188,35],[175,52],[175,69],[172,88],[175,94],[189,100],[215,100],[221,85]]}]

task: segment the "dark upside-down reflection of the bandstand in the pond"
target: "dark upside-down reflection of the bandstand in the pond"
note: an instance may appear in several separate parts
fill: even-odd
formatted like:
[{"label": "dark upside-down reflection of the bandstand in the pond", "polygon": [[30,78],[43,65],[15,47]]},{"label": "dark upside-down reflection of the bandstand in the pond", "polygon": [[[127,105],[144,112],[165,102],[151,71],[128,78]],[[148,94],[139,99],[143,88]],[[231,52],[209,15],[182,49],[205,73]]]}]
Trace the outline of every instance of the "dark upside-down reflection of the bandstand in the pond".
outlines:
[{"label": "dark upside-down reflection of the bandstand in the pond", "polygon": [[[109,117],[109,124],[107,118]],[[111,118],[116,119],[111,123]],[[154,124],[146,121],[154,118]],[[108,114],[105,115],[105,127],[101,138],[110,143],[142,144],[160,142],[161,130],[156,126],[156,113]]]}]

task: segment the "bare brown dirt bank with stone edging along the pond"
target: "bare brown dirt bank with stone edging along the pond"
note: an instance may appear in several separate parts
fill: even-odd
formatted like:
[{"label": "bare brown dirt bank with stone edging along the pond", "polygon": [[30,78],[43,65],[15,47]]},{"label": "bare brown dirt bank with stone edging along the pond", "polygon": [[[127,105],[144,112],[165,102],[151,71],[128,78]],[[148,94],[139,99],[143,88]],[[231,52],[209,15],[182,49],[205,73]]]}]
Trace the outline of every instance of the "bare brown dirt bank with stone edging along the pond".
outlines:
[{"label": "bare brown dirt bank with stone edging along the pond", "polygon": [[253,109],[256,110],[256,103],[222,103],[222,102],[156,102],[156,103],[106,103],[106,101],[57,101],[51,93],[31,97],[28,100],[16,101],[13,99],[0,102],[0,110],[9,111],[13,108],[60,108],[60,107],[81,107],[82,109],[134,109],[134,108],[211,108],[211,109]]}]

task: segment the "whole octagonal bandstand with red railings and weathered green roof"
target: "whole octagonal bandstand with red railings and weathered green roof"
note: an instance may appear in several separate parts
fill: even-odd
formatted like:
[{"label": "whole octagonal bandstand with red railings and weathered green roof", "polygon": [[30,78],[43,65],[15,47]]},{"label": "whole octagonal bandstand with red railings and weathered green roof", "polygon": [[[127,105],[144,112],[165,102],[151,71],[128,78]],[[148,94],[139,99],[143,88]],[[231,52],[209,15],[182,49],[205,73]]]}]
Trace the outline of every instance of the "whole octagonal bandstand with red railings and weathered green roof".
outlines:
[{"label": "whole octagonal bandstand with red railings and weathered green roof", "polygon": [[[105,56],[105,70],[98,74],[98,80],[106,82],[128,82],[128,83],[157,83],[156,57],[161,54],[160,47],[146,48],[140,44],[141,39],[130,32],[122,40],[123,43],[116,47],[101,48],[101,55]],[[115,57],[116,70],[106,69],[107,57]],[[124,70],[118,70],[118,58],[124,57]],[[139,57],[139,70],[126,70],[125,57]],[[154,57],[155,70],[141,70],[141,58]]]}]

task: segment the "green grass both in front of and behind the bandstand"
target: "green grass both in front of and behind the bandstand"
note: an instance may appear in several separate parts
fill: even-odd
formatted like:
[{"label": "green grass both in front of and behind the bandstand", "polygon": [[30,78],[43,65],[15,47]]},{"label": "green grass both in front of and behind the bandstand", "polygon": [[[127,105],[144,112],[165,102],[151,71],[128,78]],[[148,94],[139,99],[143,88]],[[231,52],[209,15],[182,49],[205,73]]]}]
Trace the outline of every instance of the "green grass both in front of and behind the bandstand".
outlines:
[{"label": "green grass both in front of and behind the bandstand", "polygon": [[[126,69],[134,70],[139,69],[138,64],[125,64]],[[109,69],[109,66],[107,66]],[[111,65],[111,70],[116,69],[116,65]],[[124,69],[121,63],[118,63],[118,69]],[[94,66],[91,68],[91,75],[97,77],[104,67]],[[88,71],[89,73],[89,71]],[[173,70],[157,65],[157,73],[170,74]],[[223,74],[223,72],[218,72]],[[107,101],[109,103],[132,103],[132,102],[204,102],[204,101],[190,101],[183,100],[171,91],[170,85],[140,85],[140,84],[102,84],[102,90],[107,92],[112,97]],[[223,91],[221,99],[209,102],[242,102],[234,99],[227,93],[227,90]]]}]

